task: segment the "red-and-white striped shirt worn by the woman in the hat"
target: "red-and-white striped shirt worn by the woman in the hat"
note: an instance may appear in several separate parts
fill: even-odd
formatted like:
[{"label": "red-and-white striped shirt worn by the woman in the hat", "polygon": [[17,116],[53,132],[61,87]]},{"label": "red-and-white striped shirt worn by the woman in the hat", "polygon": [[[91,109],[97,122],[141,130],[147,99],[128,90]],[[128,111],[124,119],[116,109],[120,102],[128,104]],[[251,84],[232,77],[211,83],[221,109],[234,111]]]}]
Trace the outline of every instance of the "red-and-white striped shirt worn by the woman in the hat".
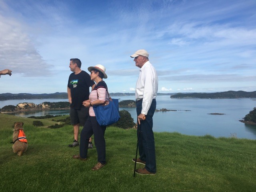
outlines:
[{"label": "red-and-white striped shirt worn by the woman in the hat", "polygon": [[[98,95],[97,95],[98,93]],[[106,84],[103,81],[98,82],[92,92],[90,93],[89,99],[91,102],[96,100],[107,101],[108,100],[108,92],[106,91]],[[95,116],[93,107],[89,108],[89,115]]]}]

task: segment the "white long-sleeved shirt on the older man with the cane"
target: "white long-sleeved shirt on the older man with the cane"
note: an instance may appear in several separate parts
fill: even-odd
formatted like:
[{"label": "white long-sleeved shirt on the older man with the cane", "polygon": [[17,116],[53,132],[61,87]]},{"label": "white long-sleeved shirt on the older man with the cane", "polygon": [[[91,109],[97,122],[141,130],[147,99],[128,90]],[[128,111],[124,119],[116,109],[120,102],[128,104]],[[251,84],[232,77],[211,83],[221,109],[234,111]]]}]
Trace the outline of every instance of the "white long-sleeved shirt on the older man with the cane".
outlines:
[{"label": "white long-sleeved shirt on the older man with the cane", "polygon": [[158,77],[156,69],[149,61],[140,68],[140,76],[136,83],[135,98],[142,101],[141,113],[147,115],[152,100],[156,98],[158,90]]}]

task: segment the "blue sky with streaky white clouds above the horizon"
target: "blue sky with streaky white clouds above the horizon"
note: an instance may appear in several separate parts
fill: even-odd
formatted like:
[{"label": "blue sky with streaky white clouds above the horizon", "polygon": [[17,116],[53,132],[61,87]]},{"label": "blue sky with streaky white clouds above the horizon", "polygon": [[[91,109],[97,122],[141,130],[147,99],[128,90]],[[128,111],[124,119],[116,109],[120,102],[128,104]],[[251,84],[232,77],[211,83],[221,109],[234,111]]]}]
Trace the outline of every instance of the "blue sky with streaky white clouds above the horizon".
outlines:
[{"label": "blue sky with streaky white clouds above the horizon", "polygon": [[0,93],[67,92],[70,58],[133,93],[145,49],[159,93],[256,90],[255,0],[0,0]]}]

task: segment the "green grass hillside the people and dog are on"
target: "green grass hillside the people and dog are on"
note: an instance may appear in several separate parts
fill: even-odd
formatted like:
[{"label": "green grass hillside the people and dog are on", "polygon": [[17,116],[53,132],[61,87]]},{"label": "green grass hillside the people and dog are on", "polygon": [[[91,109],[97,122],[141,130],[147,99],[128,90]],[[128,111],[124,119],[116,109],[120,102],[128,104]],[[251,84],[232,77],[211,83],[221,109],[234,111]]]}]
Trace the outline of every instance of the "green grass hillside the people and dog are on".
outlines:
[{"label": "green grass hillside the people and dog are on", "polygon": [[[94,146],[86,162],[72,159],[68,148],[72,126],[32,126],[33,119],[0,114],[0,191],[3,192],[126,192],[196,191],[253,192],[256,189],[256,140],[155,133],[156,175],[133,177],[136,130],[108,127],[107,164],[98,171]],[[13,123],[24,122],[28,150],[12,152]],[[41,120],[44,124],[55,124]],[[143,165],[137,164],[138,168]]]}]

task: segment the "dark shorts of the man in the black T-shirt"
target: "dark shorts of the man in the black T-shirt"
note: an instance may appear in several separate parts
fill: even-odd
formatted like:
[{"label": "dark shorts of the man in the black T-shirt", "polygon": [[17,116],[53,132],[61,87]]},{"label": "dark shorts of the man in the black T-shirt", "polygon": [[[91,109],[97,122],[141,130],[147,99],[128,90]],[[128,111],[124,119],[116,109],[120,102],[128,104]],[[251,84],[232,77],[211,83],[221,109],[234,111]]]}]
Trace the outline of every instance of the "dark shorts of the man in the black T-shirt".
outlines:
[{"label": "dark shorts of the man in the black T-shirt", "polygon": [[89,108],[84,106],[81,109],[70,108],[69,114],[72,125],[80,124],[80,126],[84,126],[89,116]]}]

